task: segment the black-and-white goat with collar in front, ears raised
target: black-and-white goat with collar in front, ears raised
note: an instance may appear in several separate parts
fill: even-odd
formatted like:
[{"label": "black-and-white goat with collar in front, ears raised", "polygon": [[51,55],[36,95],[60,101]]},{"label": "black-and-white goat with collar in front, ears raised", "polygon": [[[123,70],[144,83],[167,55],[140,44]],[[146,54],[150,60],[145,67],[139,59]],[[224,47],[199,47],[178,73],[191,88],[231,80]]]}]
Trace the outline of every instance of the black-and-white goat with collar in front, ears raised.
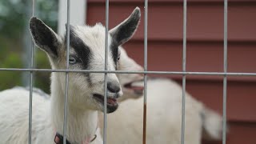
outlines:
[{"label": "black-and-white goat with collar in front, ears raised", "polygon": [[[124,22],[109,31],[108,70],[118,68],[118,46],[137,29],[137,7]],[[30,19],[35,44],[46,52],[52,69],[66,69],[66,39],[60,38],[38,18]],[[70,26],[70,70],[104,70],[105,27]],[[118,108],[122,95],[116,74],[107,74],[107,112]],[[70,143],[89,143],[98,134],[98,110],[103,110],[104,74],[70,73],[66,138]],[[28,142],[29,92],[4,90],[0,93],[0,143]],[[62,143],[65,73],[52,73],[50,100],[33,96],[32,143]],[[54,137],[55,134],[57,137]],[[91,143],[102,143],[100,135]]]}]

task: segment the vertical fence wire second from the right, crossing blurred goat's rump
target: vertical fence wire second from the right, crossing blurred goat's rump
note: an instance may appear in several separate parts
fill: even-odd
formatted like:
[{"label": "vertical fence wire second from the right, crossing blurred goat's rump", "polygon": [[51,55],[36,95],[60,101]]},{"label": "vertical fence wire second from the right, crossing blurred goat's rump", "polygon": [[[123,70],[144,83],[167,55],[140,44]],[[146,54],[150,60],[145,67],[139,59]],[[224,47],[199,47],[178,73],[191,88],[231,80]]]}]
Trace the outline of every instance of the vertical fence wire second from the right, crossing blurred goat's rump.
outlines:
[{"label": "vertical fence wire second from the right, crossing blurred goat's rump", "polygon": [[[183,1],[183,54],[182,71],[186,72],[186,0]],[[185,104],[186,104],[186,74],[182,75],[182,141],[185,137]]]}]

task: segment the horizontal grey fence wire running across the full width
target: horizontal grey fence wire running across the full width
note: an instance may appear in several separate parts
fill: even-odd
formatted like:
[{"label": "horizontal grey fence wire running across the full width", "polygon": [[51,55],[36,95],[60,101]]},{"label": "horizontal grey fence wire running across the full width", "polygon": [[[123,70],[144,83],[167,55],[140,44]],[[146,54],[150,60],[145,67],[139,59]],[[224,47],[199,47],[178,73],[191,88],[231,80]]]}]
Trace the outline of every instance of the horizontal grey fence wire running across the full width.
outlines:
[{"label": "horizontal grey fence wire running across the full width", "polygon": [[0,68],[0,71],[39,71],[39,72],[70,72],[70,73],[107,73],[107,74],[172,74],[172,75],[211,75],[211,76],[256,76],[256,73],[233,73],[233,72],[182,72],[182,71],[126,71],[126,70],[51,70],[51,69],[18,69]]}]

